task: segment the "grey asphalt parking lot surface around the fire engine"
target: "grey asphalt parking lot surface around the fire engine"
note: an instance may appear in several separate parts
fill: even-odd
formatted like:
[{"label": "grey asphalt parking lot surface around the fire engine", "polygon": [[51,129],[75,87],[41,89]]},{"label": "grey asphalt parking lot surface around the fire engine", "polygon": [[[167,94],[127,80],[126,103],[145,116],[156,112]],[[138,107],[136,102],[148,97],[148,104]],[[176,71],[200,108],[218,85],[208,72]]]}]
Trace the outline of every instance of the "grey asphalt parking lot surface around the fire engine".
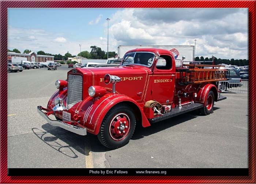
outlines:
[{"label": "grey asphalt parking lot surface around the fire engine", "polygon": [[109,150],[97,136],[53,127],[37,113],[68,70],[8,73],[8,168],[248,168],[247,94],[223,94],[208,116],[190,112],[139,128]]}]

